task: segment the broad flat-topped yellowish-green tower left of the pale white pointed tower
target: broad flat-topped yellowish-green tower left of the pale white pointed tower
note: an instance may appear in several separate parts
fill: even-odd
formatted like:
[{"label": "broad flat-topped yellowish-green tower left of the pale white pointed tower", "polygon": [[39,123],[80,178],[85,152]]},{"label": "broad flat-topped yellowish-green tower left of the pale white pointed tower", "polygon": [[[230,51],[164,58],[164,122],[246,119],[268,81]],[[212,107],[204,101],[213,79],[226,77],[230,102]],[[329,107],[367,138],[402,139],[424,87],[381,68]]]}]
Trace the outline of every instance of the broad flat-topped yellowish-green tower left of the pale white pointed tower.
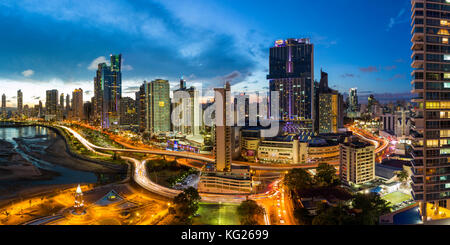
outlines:
[{"label": "broad flat-topped yellowish-green tower left of the pale white pointed tower", "polygon": [[157,79],[140,87],[139,127],[143,132],[170,131],[170,84]]}]

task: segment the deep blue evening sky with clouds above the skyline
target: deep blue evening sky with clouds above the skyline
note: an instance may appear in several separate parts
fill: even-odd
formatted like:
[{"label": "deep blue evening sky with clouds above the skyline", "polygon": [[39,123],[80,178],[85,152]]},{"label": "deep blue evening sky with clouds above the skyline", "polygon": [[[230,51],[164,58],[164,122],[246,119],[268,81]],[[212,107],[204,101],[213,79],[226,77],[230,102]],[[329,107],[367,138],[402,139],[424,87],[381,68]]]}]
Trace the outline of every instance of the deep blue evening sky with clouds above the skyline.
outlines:
[{"label": "deep blue evening sky with clouds above the skyline", "polygon": [[96,63],[123,55],[123,92],[181,75],[189,84],[266,91],[277,39],[310,37],[315,77],[342,92],[410,91],[409,0],[0,0],[0,93],[15,106],[45,90],[92,96]]}]

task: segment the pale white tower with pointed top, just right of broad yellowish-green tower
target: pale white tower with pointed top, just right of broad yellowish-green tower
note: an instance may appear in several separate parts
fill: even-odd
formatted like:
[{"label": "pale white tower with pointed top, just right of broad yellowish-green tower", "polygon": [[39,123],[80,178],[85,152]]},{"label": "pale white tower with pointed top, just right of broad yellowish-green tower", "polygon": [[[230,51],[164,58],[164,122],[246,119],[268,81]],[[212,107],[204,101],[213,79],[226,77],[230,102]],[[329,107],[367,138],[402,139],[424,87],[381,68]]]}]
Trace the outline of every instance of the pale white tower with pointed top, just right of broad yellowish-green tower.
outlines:
[{"label": "pale white tower with pointed top, just right of broad yellowish-green tower", "polygon": [[[188,98],[179,98],[180,96]],[[186,88],[186,80],[181,78],[180,88],[174,91],[174,100],[172,111],[177,116],[173,122],[173,131],[184,135],[199,135],[202,119],[198,90],[195,87]]]}]

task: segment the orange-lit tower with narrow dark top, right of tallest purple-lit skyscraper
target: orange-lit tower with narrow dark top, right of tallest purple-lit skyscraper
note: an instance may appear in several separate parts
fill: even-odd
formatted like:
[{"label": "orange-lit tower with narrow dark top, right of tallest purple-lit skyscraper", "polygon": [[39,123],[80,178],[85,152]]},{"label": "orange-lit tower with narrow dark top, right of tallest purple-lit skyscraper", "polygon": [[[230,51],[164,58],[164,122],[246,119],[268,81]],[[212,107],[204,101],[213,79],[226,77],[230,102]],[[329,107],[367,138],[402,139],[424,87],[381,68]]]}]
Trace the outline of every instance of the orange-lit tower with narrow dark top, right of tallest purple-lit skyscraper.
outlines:
[{"label": "orange-lit tower with narrow dark top, right of tallest purple-lit skyscraper", "polygon": [[320,83],[316,89],[316,131],[337,133],[343,126],[343,97],[338,91],[328,87],[328,73],[320,71]]}]

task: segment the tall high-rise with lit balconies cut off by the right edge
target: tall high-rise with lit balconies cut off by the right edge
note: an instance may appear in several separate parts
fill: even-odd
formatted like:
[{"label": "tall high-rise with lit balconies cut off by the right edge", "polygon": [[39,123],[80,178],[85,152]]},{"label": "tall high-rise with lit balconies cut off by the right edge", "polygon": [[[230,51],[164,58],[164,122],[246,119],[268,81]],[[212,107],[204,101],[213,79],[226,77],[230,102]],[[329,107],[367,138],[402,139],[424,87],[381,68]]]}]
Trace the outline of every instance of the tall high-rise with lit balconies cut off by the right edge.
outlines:
[{"label": "tall high-rise with lit balconies cut off by the right edge", "polygon": [[[412,0],[414,103],[412,194],[426,221],[427,203],[450,207],[450,72],[448,1]],[[426,13],[426,15],[425,15]]]}]

